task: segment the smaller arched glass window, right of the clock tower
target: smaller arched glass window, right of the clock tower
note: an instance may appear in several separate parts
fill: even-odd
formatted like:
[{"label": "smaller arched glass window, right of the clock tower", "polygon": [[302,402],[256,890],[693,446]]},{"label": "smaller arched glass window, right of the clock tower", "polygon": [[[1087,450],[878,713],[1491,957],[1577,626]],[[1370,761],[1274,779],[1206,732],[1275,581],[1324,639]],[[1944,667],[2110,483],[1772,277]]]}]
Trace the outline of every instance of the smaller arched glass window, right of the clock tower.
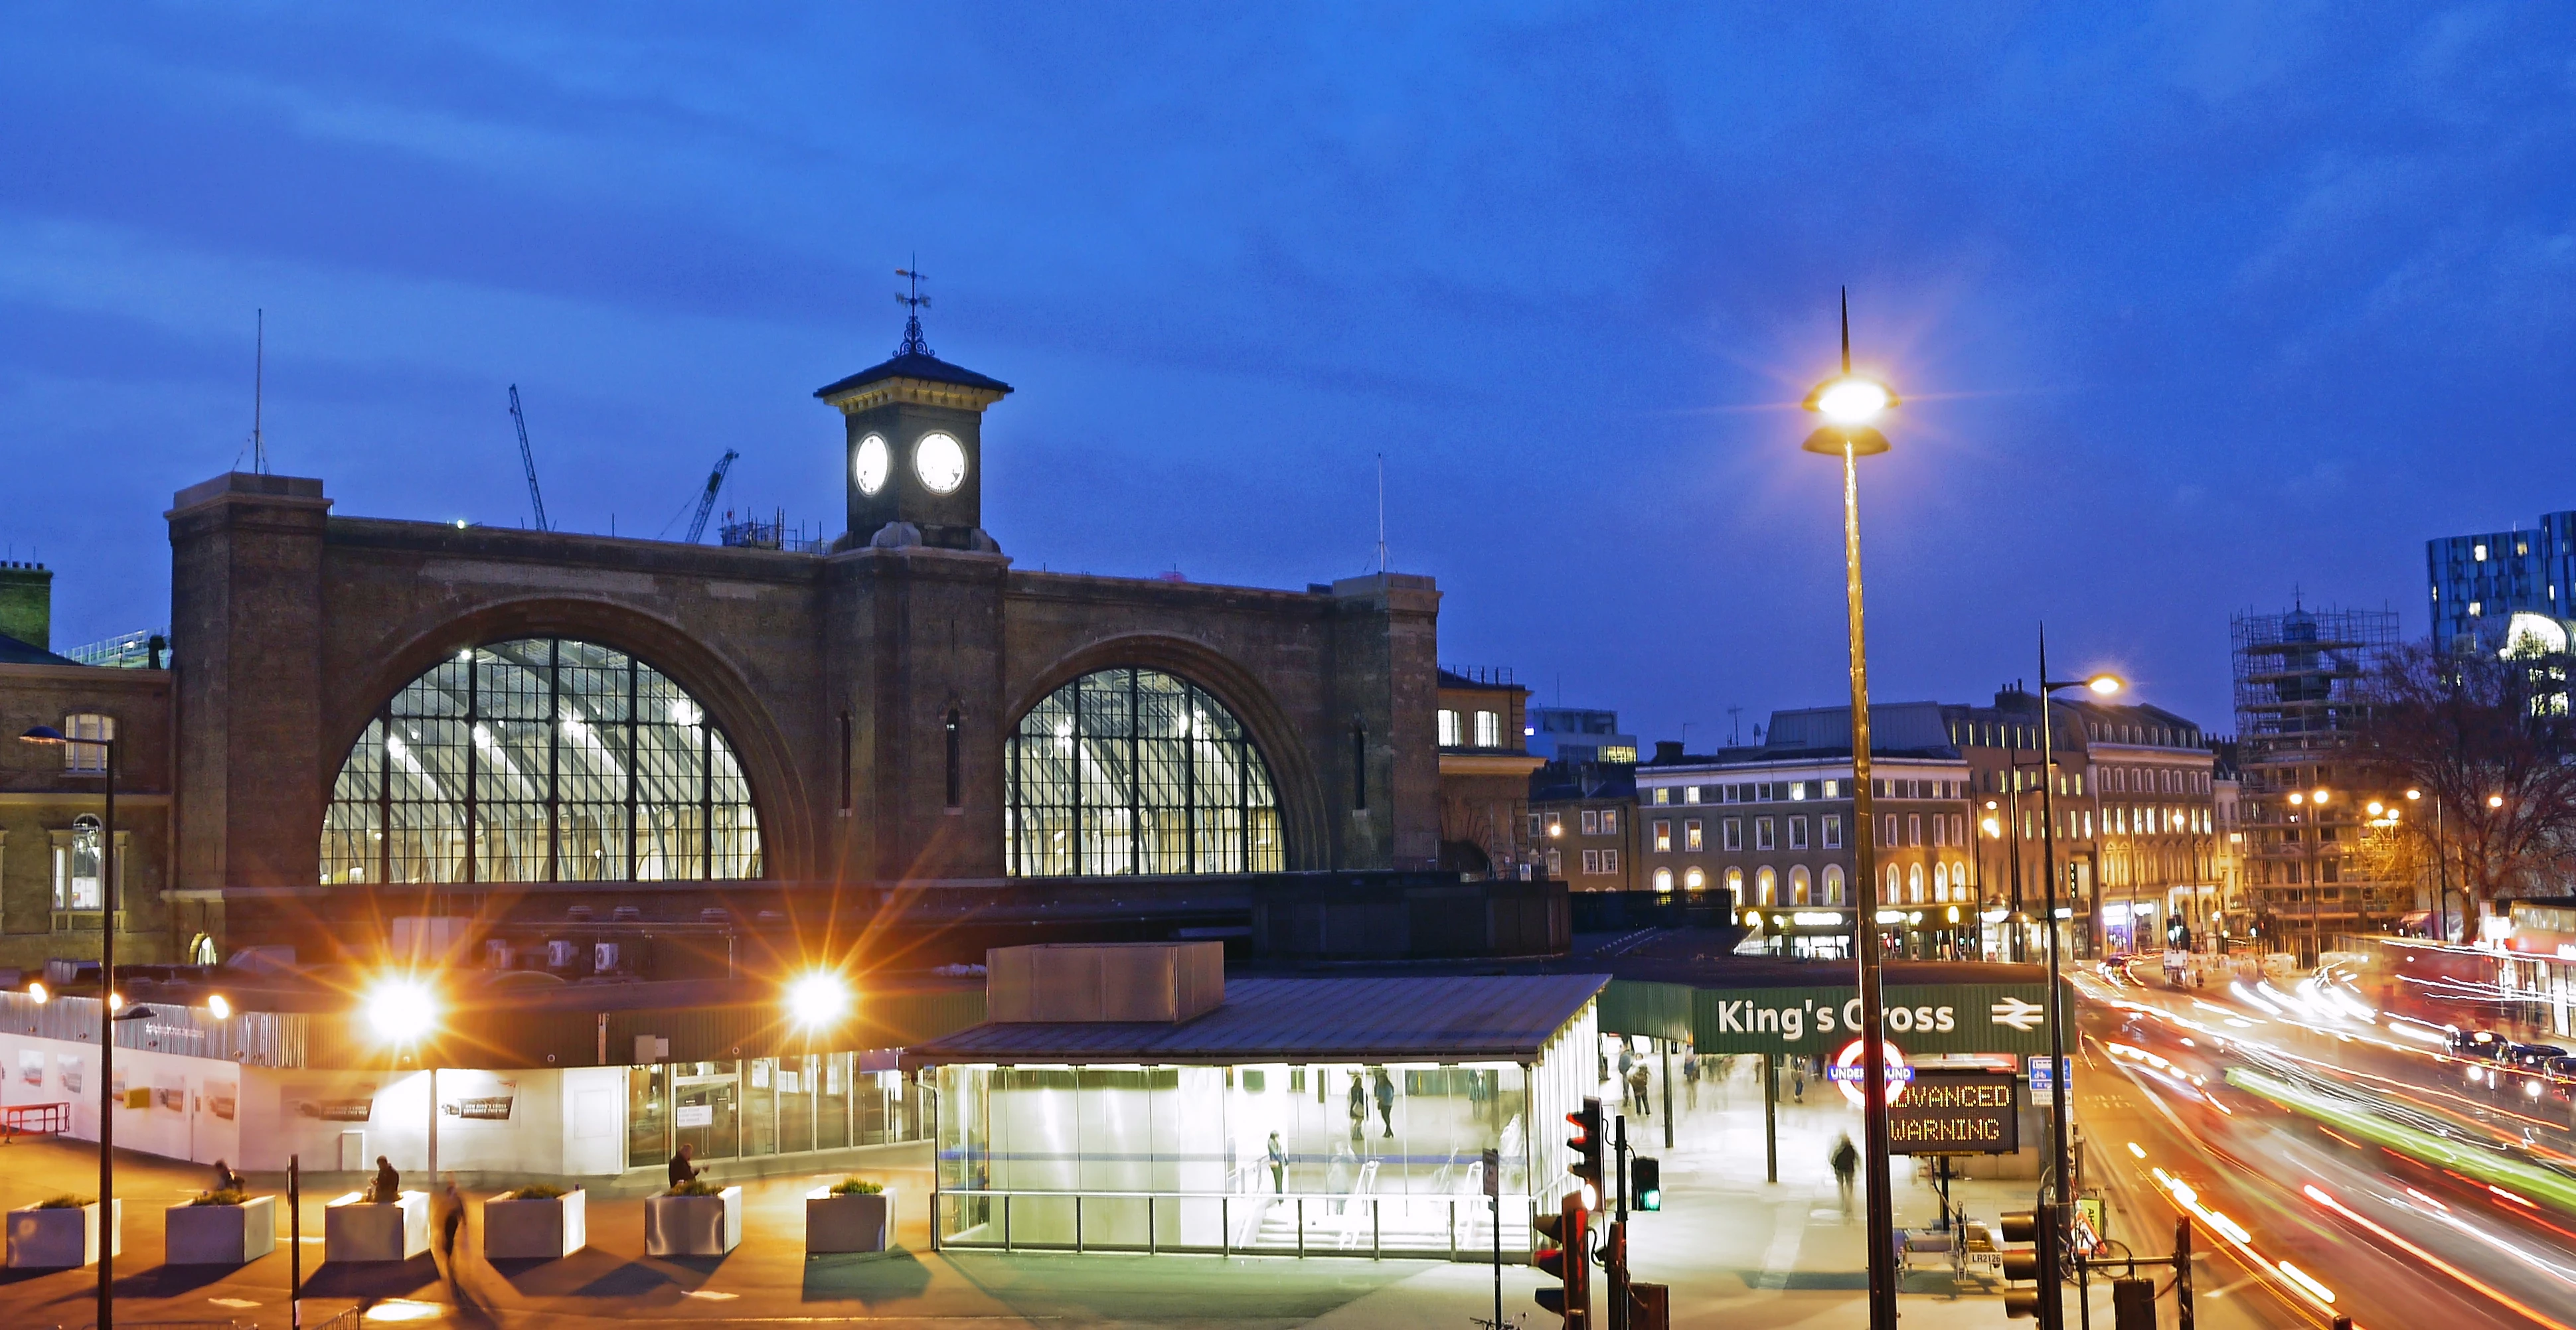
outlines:
[{"label": "smaller arched glass window, right of the clock tower", "polygon": [[1260,747],[1206,688],[1162,670],[1100,670],[1046,693],[1012,729],[1002,771],[1012,876],[1288,866]]}]

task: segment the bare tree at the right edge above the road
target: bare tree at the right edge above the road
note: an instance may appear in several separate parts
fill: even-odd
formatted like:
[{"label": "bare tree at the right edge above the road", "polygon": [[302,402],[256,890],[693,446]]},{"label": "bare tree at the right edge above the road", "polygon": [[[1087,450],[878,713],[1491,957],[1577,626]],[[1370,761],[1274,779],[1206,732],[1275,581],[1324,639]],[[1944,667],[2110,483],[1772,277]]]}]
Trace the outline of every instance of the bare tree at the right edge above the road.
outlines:
[{"label": "bare tree at the right edge above the road", "polygon": [[2362,747],[2424,791],[2406,807],[2414,835],[2434,835],[2452,884],[2478,905],[2558,894],[2576,851],[2576,717],[2566,655],[2442,652],[2414,642],[2370,680]]}]

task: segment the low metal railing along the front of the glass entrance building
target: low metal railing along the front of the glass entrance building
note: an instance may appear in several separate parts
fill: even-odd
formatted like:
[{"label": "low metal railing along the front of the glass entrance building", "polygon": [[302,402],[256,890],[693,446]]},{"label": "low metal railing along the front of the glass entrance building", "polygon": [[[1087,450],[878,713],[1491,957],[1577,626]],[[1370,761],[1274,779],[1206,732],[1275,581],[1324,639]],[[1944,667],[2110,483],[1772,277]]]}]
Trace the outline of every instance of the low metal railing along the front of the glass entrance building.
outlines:
[{"label": "low metal railing along the front of the glass entrance building", "polygon": [[[1118,1206],[1103,1214],[1103,1206]],[[1216,1242],[1188,1240],[1185,1217],[1167,1209],[1185,1204],[1216,1206]],[[1046,1206],[1048,1214],[1030,1214]],[[1141,1237],[1136,1209],[1144,1209]],[[979,1209],[974,1222],[963,1219]],[[1262,1237],[1273,1209],[1288,1209],[1291,1237]],[[1365,1245],[1360,1242],[1365,1209]],[[1069,1224],[1066,1224],[1069,1214]],[[1236,1235],[1236,1214],[1252,1217],[1249,1235]],[[1028,1188],[940,1188],[933,1193],[930,1245],[979,1250],[1059,1250],[1059,1253],[1216,1253],[1216,1255],[1445,1255],[1448,1260],[1492,1260],[1494,1227],[1515,1260],[1528,1258],[1530,1196],[1504,1196],[1502,1219],[1494,1201],[1479,1193],[1350,1193],[1350,1191],[1028,1191]],[[1430,1217],[1430,1222],[1422,1222]],[[1172,1224],[1167,1229],[1164,1224]],[[1206,1217],[1195,1227],[1203,1229]],[[1025,1229],[1043,1229],[1028,1235]],[[1121,1235],[1092,1237],[1092,1227],[1121,1227]],[[966,1237],[981,1229],[979,1237]]]}]

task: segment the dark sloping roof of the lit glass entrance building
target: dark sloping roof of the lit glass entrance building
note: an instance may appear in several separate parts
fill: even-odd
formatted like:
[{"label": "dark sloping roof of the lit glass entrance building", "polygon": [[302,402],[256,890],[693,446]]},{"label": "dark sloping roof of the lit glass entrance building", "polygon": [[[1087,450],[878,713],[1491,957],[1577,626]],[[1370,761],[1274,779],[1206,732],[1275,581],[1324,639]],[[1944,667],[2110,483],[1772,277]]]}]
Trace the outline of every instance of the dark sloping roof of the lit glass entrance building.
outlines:
[{"label": "dark sloping roof of the lit glass entrance building", "polygon": [[904,1049],[904,1070],[958,1062],[1535,1062],[1607,974],[1229,979],[1206,1016],[989,1021]]}]

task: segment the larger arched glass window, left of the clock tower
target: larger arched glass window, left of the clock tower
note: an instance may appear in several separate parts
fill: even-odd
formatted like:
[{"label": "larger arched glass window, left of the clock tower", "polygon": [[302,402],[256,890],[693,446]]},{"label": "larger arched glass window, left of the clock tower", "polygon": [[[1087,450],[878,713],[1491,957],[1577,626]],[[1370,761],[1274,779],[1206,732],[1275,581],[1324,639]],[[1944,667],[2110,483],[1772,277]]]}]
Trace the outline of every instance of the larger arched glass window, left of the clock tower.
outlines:
[{"label": "larger arched glass window, left of the clock tower", "polygon": [[760,876],[734,745],[641,660],[551,637],[440,660],[376,711],[322,820],[322,882]]}]

